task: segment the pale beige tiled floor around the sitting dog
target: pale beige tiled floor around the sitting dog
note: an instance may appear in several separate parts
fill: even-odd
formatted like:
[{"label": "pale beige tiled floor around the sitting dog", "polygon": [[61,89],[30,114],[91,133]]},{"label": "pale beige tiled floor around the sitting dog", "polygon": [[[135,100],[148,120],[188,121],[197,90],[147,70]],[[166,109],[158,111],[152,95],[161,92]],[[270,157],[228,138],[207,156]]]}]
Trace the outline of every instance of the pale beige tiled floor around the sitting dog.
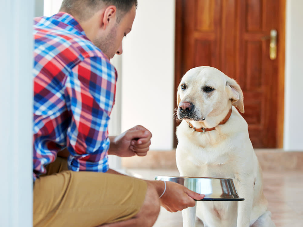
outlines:
[{"label": "pale beige tiled floor around the sitting dog", "polygon": [[[177,170],[128,169],[127,172],[143,179],[155,176],[178,176]],[[303,227],[303,172],[265,172],[264,193],[277,227]],[[182,213],[170,213],[161,208],[154,227],[182,227]]]}]

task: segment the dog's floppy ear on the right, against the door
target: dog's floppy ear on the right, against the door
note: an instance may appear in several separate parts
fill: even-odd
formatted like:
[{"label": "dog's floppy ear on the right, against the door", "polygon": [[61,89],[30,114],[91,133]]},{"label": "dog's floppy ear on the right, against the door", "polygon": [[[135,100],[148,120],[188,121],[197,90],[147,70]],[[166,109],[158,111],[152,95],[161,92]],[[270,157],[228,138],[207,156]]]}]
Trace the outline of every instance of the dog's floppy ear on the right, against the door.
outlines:
[{"label": "dog's floppy ear on the right, against the door", "polygon": [[241,113],[244,113],[244,97],[239,84],[237,84],[235,80],[228,77],[228,80],[226,81],[226,87],[229,93],[231,104],[235,107],[238,107]]}]

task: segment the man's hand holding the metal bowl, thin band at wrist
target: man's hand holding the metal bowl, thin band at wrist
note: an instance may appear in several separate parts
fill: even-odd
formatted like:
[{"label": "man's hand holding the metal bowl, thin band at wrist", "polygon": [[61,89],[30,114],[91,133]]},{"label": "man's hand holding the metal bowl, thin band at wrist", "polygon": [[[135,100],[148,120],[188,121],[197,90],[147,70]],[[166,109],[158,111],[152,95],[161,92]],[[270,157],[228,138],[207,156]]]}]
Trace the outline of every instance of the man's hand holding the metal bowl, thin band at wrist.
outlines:
[{"label": "man's hand holding the metal bowl, thin band at wrist", "polygon": [[[159,196],[164,191],[163,181],[150,181],[156,188]],[[170,212],[177,212],[188,207],[195,206],[196,200],[201,200],[205,195],[198,194],[186,188],[185,186],[175,183],[166,182],[166,191],[160,199],[161,206]]]}]

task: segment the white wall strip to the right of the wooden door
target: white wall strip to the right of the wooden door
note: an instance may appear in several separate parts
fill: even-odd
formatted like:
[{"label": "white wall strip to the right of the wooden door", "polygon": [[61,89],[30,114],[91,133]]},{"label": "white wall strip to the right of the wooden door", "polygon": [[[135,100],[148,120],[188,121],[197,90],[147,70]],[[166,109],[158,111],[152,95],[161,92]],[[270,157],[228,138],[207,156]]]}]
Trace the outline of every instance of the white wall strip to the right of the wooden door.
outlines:
[{"label": "white wall strip to the right of the wooden door", "polygon": [[303,151],[303,1],[288,0],[286,6],[285,150]]}]

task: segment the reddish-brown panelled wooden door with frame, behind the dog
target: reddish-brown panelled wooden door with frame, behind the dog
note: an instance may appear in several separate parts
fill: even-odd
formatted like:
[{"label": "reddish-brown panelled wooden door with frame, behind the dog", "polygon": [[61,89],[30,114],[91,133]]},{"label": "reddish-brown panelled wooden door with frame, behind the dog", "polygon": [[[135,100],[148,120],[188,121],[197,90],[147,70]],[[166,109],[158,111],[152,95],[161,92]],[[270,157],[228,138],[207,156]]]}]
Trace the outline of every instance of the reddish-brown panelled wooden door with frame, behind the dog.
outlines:
[{"label": "reddish-brown panelled wooden door with frame, behind the dog", "polygon": [[[271,29],[278,32],[274,60]],[[283,146],[285,0],[176,0],[175,42],[175,92],[189,69],[216,67],[243,90],[253,146]]]}]

